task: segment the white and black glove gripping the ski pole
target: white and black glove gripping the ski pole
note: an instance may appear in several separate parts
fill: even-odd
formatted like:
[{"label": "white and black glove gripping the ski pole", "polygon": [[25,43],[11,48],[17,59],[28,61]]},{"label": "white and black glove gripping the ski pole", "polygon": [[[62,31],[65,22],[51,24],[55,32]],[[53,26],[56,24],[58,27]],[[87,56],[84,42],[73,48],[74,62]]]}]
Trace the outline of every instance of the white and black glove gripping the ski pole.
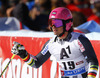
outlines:
[{"label": "white and black glove gripping the ski pole", "polygon": [[28,53],[27,51],[25,50],[25,47],[23,45],[21,45],[20,43],[18,42],[13,42],[14,46],[11,50],[11,52],[15,55],[19,55],[21,58],[25,58]]}]

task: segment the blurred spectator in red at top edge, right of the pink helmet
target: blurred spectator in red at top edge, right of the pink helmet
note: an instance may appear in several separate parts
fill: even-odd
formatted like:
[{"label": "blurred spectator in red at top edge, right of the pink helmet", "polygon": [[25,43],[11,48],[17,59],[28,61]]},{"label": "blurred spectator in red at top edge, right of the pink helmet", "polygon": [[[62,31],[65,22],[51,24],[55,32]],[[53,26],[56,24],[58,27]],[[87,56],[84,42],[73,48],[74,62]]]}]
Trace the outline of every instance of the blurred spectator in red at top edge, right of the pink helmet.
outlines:
[{"label": "blurred spectator in red at top edge, right of the pink helmet", "polygon": [[77,11],[83,13],[86,17],[92,14],[89,0],[73,0],[73,3],[66,6],[72,12]]}]

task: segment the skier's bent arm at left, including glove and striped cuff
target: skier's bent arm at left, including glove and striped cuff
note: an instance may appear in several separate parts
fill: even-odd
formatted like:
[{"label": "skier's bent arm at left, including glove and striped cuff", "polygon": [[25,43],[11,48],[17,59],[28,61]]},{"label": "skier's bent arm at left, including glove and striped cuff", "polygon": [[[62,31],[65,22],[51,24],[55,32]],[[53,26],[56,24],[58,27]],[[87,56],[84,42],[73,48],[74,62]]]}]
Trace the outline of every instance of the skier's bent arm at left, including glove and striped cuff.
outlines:
[{"label": "skier's bent arm at left, including glove and striped cuff", "polygon": [[[12,53],[16,54],[16,55],[19,55],[22,58],[22,60],[25,61],[28,65],[30,65],[34,68],[38,68],[51,56],[48,49],[46,49],[47,44],[48,44],[48,42],[44,45],[41,52],[39,52],[36,56],[33,56],[33,55],[27,53],[24,46],[21,45],[21,44],[20,44],[21,47],[18,48],[19,43],[14,44],[14,46],[12,48]],[[42,52],[45,52],[46,54],[43,55]]]}]

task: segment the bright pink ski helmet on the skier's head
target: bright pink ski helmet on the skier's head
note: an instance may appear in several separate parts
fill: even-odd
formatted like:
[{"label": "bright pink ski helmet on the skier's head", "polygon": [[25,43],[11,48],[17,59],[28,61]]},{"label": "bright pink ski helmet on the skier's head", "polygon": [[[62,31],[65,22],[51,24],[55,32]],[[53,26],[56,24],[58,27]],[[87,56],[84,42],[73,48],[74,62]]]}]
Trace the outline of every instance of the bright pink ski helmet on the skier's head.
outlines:
[{"label": "bright pink ski helmet on the skier's head", "polygon": [[[70,10],[64,7],[58,7],[51,11],[49,19],[60,19],[64,23],[64,30],[68,31],[72,26],[72,14]],[[66,22],[67,21],[67,22]],[[69,22],[68,22],[69,21]]]}]

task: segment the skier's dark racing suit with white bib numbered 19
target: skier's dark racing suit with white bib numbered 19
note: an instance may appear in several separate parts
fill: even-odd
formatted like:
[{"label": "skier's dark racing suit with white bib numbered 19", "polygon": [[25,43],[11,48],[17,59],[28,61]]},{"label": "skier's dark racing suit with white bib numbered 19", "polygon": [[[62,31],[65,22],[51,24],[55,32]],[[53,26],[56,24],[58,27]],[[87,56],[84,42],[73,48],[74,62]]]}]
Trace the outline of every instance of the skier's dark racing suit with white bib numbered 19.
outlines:
[{"label": "skier's dark racing suit with white bib numbered 19", "polygon": [[59,63],[61,78],[96,77],[98,60],[90,41],[83,34],[71,32],[65,39],[53,37],[36,56],[28,53],[22,59],[28,65],[38,68],[51,55]]}]

